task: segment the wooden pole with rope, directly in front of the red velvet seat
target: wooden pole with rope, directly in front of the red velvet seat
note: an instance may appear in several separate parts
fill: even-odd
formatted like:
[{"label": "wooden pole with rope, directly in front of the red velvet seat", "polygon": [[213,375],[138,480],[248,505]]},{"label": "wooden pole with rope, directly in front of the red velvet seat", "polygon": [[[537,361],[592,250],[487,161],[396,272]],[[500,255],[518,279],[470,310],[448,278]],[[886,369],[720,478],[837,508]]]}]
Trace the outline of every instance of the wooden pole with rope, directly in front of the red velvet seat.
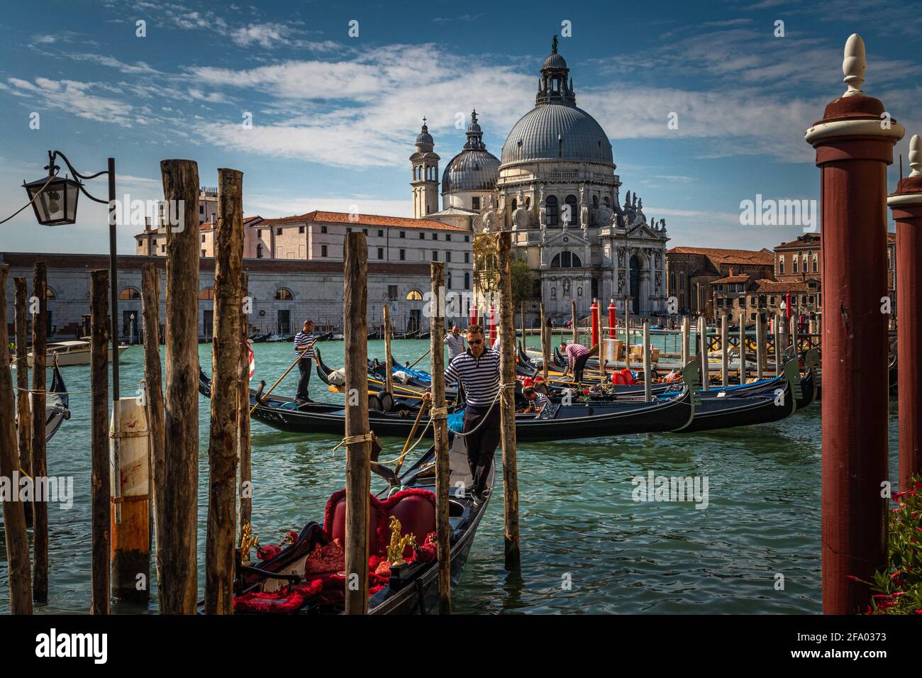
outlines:
[{"label": "wooden pole with rope, directly in front of the red velvet seat", "polygon": [[[368,613],[369,492],[368,246],[362,232],[346,233],[343,329],[346,341],[346,613]],[[430,323],[431,325],[431,323]],[[442,347],[439,347],[442,351]]]}]

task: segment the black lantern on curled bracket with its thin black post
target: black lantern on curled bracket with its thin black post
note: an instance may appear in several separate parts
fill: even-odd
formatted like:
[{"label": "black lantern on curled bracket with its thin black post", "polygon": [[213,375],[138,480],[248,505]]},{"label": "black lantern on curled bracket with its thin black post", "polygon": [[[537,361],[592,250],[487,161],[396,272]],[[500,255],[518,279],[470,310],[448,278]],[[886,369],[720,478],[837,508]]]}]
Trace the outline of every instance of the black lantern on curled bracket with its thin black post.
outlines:
[{"label": "black lantern on curled bracket with its thin black post", "polygon": [[[59,168],[54,161],[60,158],[67,165],[67,169],[75,177],[71,179],[67,176],[61,178],[58,176]],[[42,226],[62,226],[72,224],[77,221],[77,197],[80,193],[89,197],[93,202],[99,202],[103,205],[109,205],[109,279],[110,279],[110,298],[112,300],[112,315],[110,317],[110,332],[112,334],[112,410],[114,403],[118,402],[118,272],[115,265],[115,159],[109,159],[108,169],[95,174],[81,174],[74,169],[74,166],[67,160],[64,153],[59,150],[48,151],[48,176],[30,184],[22,183],[26,192],[29,194],[30,203],[35,210],[35,218]],[[108,175],[109,178],[109,199],[101,200],[98,197],[91,196],[83,186],[83,180],[95,179],[102,174]],[[117,414],[116,414],[117,416]],[[117,474],[116,474],[117,476]]]}]

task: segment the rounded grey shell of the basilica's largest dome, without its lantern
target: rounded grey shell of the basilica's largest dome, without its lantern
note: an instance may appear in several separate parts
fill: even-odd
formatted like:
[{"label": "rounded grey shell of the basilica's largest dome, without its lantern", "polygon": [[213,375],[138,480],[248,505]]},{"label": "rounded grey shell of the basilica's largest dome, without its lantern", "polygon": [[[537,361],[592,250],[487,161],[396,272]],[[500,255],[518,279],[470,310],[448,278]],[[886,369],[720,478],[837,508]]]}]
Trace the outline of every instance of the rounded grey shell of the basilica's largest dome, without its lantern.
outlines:
[{"label": "rounded grey shell of the basilica's largest dome, without its lantern", "polygon": [[562,103],[533,108],[513,125],[502,145],[503,165],[558,158],[614,164],[611,142],[596,119]]}]

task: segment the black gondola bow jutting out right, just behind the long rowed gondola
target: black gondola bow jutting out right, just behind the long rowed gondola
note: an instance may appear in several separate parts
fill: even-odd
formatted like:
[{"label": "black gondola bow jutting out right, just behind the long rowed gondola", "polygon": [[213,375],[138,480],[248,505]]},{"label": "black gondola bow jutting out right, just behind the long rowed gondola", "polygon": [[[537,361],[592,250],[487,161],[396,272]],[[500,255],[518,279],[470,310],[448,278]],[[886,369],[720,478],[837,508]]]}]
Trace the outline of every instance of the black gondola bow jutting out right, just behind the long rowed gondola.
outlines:
[{"label": "black gondola bow jutting out right, just behind the long rowed gondola", "polygon": [[779,387],[777,393],[701,398],[695,407],[692,421],[674,433],[701,433],[756,423],[780,422],[797,411],[799,391],[798,362],[788,361],[785,364],[785,384]]}]

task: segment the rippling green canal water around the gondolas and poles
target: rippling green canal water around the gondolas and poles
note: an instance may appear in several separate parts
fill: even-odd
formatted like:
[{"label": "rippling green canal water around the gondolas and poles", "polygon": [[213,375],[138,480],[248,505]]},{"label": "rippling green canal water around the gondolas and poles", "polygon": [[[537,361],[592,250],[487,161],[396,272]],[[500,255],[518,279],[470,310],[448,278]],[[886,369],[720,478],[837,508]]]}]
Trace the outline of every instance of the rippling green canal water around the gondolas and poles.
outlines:
[{"label": "rippling green canal water around the gondolas and poles", "polygon": [[[529,338],[535,346],[538,339]],[[318,344],[340,367],[344,344]],[[415,361],[428,341],[394,342],[397,361]],[[383,357],[384,342],[369,343]],[[206,371],[211,346],[199,351]],[[293,360],[290,343],[256,344],[254,382],[273,383]],[[122,357],[123,396],[143,375],[140,347]],[[420,363],[428,369],[428,359]],[[89,389],[89,367],[63,369],[73,391]],[[293,394],[297,370],[278,387]],[[326,392],[314,374],[315,399]],[[44,613],[89,609],[89,394],[71,397],[71,419],[48,446],[50,475],[72,476],[74,504],[50,507],[50,591]],[[198,564],[204,585],[209,405],[199,398]],[[503,567],[502,475],[453,593],[460,613],[820,613],[820,407],[784,422],[711,434],[656,434],[518,447],[521,576]],[[278,543],[288,529],[321,521],[327,497],[345,482],[344,453],[329,435],[282,434],[253,425],[254,532]],[[403,441],[384,439],[384,457]],[[423,445],[417,448],[423,449]],[[896,477],[896,403],[891,402],[890,473]],[[500,461],[499,451],[497,462]],[[706,476],[709,502],[634,502],[635,476]],[[372,489],[381,487],[375,479]],[[2,531],[2,523],[0,523]],[[784,576],[784,590],[775,589]],[[136,604],[115,613],[155,611]],[[8,612],[5,540],[0,538],[0,612]]]}]

